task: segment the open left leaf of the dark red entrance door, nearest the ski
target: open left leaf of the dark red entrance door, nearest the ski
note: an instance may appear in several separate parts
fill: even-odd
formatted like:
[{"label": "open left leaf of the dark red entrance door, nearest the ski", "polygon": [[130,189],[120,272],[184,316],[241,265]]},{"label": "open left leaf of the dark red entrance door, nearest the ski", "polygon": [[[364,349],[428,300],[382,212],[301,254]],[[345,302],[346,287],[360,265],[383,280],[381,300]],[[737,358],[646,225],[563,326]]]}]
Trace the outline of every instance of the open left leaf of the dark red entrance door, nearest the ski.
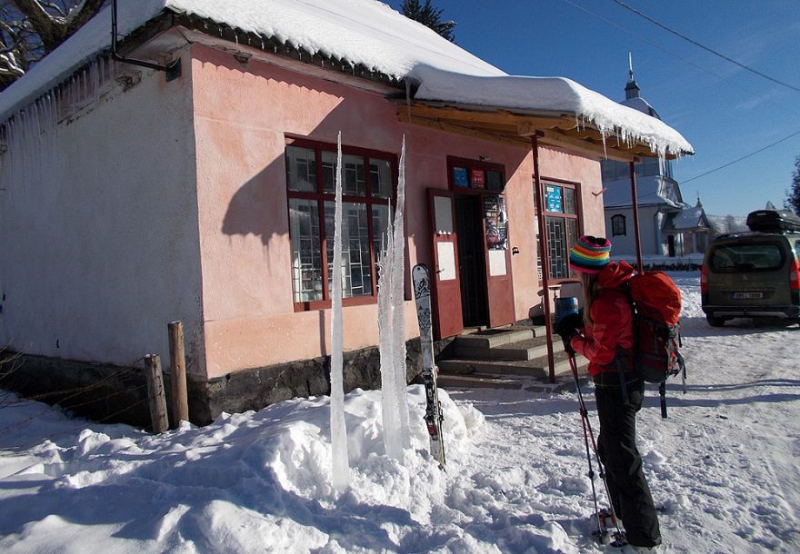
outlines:
[{"label": "open left leaf of the dark red entrance door, nearest the ski", "polygon": [[428,211],[434,247],[434,337],[440,340],[464,331],[453,193],[428,189]]}]

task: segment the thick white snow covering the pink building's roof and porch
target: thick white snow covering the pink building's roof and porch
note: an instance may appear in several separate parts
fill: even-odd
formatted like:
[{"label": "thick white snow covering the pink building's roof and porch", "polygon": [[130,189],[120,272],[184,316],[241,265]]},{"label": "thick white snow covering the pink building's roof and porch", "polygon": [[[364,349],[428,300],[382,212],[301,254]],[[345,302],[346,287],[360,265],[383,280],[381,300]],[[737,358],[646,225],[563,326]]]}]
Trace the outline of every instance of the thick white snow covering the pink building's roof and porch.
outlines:
[{"label": "thick white snow covering the pink building's roof and porch", "polygon": [[[653,152],[694,152],[681,134],[655,118],[569,79],[507,75],[375,0],[127,0],[119,3],[118,31],[128,35],[165,10],[411,79],[419,84],[417,99],[570,114],[604,136],[640,141]],[[107,51],[110,21],[106,8],[0,94],[0,121]]]}]

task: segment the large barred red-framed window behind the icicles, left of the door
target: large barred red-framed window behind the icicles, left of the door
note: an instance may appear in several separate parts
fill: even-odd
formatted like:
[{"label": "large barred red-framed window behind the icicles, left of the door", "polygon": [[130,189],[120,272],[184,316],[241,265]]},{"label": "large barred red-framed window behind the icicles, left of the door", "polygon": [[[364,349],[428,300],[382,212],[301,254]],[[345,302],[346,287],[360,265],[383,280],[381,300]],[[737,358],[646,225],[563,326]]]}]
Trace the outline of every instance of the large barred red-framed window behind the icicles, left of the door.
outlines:
[{"label": "large barred red-framed window behind the icicles, left of the door", "polygon": [[395,194],[395,156],[342,147],[342,267],[333,267],[336,145],[286,145],[286,188],[295,309],[330,303],[342,279],[343,303],[375,302],[375,262]]}]

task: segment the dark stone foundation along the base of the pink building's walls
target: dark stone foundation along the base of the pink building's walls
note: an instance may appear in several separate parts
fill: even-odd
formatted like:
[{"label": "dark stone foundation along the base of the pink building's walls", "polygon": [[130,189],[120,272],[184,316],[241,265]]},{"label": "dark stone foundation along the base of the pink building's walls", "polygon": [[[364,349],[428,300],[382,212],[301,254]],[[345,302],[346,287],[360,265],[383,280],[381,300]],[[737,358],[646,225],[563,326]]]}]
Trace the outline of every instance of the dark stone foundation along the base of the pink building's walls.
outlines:
[{"label": "dark stone foundation along the base of the pink building's walls", "polygon": [[[449,342],[435,344],[435,351],[441,351]],[[405,348],[406,382],[411,382],[422,371],[419,340],[406,341]],[[162,360],[163,366],[164,363]],[[377,348],[345,352],[344,364],[345,392],[380,388]],[[0,375],[0,388],[49,404],[57,403],[75,415],[150,428],[145,371],[141,367],[19,354],[0,367]],[[187,386],[189,419],[205,425],[223,411],[260,410],[295,397],[330,394],[330,357],[235,371],[210,381],[197,379],[190,372]],[[169,403],[168,372],[165,372],[165,390]]]}]

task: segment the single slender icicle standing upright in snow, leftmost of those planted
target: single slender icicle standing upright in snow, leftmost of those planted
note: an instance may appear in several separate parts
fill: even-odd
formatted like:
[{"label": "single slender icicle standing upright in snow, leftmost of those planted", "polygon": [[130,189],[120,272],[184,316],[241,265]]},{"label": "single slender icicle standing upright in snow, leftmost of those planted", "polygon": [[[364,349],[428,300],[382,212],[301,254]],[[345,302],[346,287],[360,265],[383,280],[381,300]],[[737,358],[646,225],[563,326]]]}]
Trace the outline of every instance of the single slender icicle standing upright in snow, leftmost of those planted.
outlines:
[{"label": "single slender icicle standing upright in snow, leftmost of those planted", "polygon": [[334,211],[334,260],[331,292],[331,476],[335,490],[350,484],[345,426],[345,384],[342,355],[342,133],[336,153],[336,202]]}]

